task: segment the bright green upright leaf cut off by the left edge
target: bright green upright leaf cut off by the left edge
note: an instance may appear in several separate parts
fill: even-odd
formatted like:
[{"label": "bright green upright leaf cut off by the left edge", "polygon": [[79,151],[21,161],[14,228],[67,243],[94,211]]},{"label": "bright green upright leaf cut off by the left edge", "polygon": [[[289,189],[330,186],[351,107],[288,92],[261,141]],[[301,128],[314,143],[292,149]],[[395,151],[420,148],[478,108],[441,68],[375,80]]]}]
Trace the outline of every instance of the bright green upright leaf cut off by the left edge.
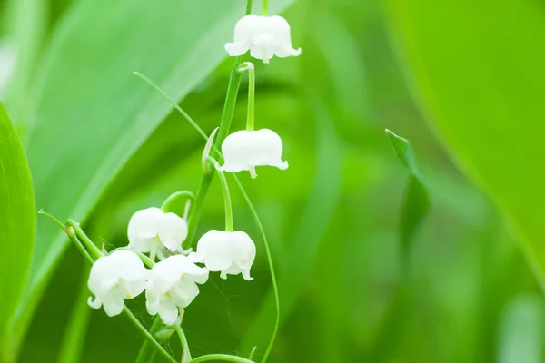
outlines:
[{"label": "bright green upright leaf cut off by the left edge", "polygon": [[0,103],[0,360],[11,362],[9,323],[22,296],[35,245],[35,199],[25,152]]}]

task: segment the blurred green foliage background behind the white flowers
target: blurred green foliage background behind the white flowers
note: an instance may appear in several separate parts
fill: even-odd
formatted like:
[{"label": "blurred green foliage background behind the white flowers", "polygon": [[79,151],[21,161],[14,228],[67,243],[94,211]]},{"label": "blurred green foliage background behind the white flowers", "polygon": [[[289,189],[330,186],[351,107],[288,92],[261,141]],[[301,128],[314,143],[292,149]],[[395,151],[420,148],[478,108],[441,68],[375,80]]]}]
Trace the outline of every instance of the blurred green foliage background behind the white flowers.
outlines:
[{"label": "blurred green foliage background behind the white flowers", "polygon": [[[282,136],[290,168],[241,175],[279,275],[271,362],[543,361],[545,63],[536,39],[545,5],[435,3],[270,0],[302,47],[298,58],[255,62],[256,125]],[[0,99],[27,152],[36,208],[82,221],[110,248],[127,243],[134,211],[196,191],[203,140],[132,72],[212,132],[233,64],[223,44],[244,6],[0,1]],[[245,122],[246,82],[233,130]],[[409,172],[386,128],[411,141],[430,192],[409,249],[399,232]],[[257,243],[255,279],[215,274],[183,328],[193,356],[247,356],[256,345],[259,358],[272,333],[271,279],[229,181],[235,228]],[[222,225],[214,181],[198,234]],[[86,308],[84,260],[55,228],[38,218],[17,361],[134,361],[143,338],[124,317]],[[151,322],[143,299],[128,305]],[[81,358],[66,351],[74,331],[84,332]],[[167,348],[180,353],[175,338]]]}]

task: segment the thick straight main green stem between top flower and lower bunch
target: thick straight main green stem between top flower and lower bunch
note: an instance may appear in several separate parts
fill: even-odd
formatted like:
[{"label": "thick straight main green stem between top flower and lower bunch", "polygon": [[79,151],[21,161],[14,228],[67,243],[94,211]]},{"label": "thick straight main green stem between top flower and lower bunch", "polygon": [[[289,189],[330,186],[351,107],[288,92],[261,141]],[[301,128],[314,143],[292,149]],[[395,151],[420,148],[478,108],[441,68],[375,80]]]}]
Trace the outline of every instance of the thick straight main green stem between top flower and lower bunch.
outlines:
[{"label": "thick straight main green stem between top flower and lower bunch", "polygon": [[[233,70],[231,71],[231,78],[229,80],[229,85],[227,86],[227,96],[225,97],[225,104],[223,107],[222,121],[220,123],[220,129],[218,130],[218,135],[215,139],[213,145],[215,150],[218,150],[222,145],[223,140],[229,134],[231,129],[231,121],[233,120],[234,106],[236,103],[236,97],[238,95],[239,86],[241,83],[241,74],[238,72],[242,62],[242,57],[236,57],[233,64]],[[186,117],[187,118],[187,117]],[[189,119],[188,119],[189,120]],[[198,125],[193,125],[195,129],[200,130]],[[204,137],[208,139],[207,136]],[[182,248],[187,250],[193,245],[193,239],[197,231],[197,225],[203,215],[204,201],[206,201],[206,194],[210,189],[210,183],[213,179],[213,170],[209,173],[203,175],[201,179],[201,185],[199,186],[199,191],[197,191],[197,198],[193,206],[193,210],[189,214],[189,231],[187,234],[187,239],[183,241]]]}]

